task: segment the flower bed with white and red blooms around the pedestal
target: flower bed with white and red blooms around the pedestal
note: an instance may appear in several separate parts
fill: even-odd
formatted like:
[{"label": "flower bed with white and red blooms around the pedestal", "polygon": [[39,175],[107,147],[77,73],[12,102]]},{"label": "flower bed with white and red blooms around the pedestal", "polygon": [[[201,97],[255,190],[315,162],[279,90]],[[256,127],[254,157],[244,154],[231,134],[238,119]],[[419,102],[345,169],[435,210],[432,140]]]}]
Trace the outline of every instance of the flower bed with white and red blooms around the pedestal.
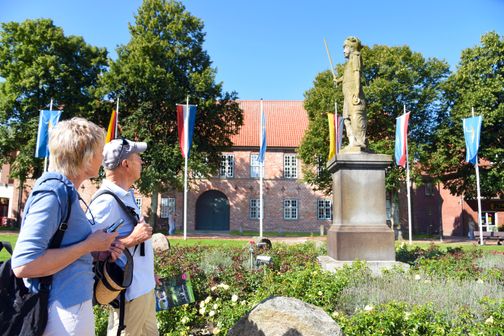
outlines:
[{"label": "flower bed with white and red blooms around the pedestal", "polygon": [[[174,247],[156,260],[162,277],[189,272],[197,302],[158,313],[161,335],[226,335],[270,296],[290,296],[324,309],[345,335],[504,335],[504,256],[397,249],[409,272],[372,277],[365,263],[336,273],[316,262],[325,247],[276,244],[272,263],[250,267],[248,248]],[[96,309],[97,334],[106,312]]]}]

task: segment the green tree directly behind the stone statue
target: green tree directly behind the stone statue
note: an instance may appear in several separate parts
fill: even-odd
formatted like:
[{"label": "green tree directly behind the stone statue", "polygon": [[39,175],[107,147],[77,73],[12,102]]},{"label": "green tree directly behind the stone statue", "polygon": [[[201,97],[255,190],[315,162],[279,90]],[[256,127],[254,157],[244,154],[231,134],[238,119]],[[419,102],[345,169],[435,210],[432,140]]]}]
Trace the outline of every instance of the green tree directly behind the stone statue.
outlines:
[{"label": "green tree directly behind the stone statue", "polygon": [[[411,111],[410,159],[423,158],[423,152],[432,143],[433,133],[443,117],[438,103],[439,86],[448,76],[448,65],[436,58],[425,59],[407,46],[364,47],[362,59],[369,148],[376,153],[393,154],[395,119],[403,113],[405,104],[407,110]],[[342,64],[336,69],[339,75],[343,73]],[[335,102],[341,114],[341,86],[334,86],[330,71],[319,73],[314,87],[305,93],[309,126],[299,154],[306,164],[306,181],[326,192],[331,191],[331,177],[325,169],[329,151],[326,113],[334,112]],[[313,169],[317,166],[322,169]],[[402,168],[388,171],[389,190],[398,188],[403,173]]]}]

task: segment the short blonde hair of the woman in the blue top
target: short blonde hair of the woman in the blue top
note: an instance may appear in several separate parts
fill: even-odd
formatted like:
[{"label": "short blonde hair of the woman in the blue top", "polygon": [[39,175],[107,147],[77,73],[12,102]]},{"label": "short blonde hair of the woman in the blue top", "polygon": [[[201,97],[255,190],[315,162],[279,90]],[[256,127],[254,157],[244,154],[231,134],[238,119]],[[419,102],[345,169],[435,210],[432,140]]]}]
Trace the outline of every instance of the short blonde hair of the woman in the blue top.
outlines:
[{"label": "short blonde hair of the woman in the blue top", "polygon": [[103,150],[105,130],[83,118],[57,123],[49,131],[49,171],[66,177],[84,172],[96,151]]}]

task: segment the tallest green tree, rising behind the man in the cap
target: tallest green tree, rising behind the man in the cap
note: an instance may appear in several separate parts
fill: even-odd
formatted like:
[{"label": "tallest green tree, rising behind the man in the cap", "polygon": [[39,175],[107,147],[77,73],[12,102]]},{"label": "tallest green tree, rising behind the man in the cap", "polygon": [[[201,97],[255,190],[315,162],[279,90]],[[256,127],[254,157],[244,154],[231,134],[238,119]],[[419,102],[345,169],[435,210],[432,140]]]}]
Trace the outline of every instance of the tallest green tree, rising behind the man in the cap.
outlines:
[{"label": "tallest green tree, rising behind the man in the cap", "polygon": [[[144,0],[130,25],[131,40],[118,48],[118,59],[103,78],[102,94],[120,97],[123,134],[149,144],[139,189],[157,195],[180,186],[183,159],[177,137],[176,104],[198,105],[193,172],[208,174],[220,162],[220,151],[243,123],[236,93],[223,93],[216,70],[203,49],[203,22],[177,1]],[[154,224],[155,216],[151,216]]]}]

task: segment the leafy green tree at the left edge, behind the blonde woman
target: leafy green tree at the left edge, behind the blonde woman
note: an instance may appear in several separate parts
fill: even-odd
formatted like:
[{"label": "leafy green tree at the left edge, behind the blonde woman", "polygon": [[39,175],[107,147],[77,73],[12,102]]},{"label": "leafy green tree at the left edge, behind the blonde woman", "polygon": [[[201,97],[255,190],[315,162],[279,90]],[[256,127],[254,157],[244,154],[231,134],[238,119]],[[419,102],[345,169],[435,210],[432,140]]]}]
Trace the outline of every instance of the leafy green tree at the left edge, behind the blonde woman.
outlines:
[{"label": "leafy green tree at the left edge, behind the blonde woman", "polygon": [[39,110],[53,98],[56,108],[64,108],[62,119],[92,116],[106,64],[105,49],[65,36],[49,19],[2,23],[0,160],[12,164],[13,178],[24,181],[41,171],[41,160],[34,157]]}]

